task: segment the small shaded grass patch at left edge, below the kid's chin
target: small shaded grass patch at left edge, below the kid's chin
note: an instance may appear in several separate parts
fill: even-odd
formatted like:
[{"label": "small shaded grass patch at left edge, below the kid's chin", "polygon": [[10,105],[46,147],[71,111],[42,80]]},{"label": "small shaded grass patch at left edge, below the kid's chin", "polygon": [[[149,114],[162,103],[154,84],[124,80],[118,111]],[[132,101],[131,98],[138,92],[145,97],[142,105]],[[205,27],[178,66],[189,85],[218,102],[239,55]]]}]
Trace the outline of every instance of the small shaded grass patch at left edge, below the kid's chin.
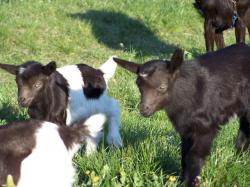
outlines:
[{"label": "small shaded grass patch at left edge, below the kid's chin", "polygon": [[6,123],[17,120],[25,120],[27,115],[24,110],[17,111],[10,103],[0,104],[0,120]]}]

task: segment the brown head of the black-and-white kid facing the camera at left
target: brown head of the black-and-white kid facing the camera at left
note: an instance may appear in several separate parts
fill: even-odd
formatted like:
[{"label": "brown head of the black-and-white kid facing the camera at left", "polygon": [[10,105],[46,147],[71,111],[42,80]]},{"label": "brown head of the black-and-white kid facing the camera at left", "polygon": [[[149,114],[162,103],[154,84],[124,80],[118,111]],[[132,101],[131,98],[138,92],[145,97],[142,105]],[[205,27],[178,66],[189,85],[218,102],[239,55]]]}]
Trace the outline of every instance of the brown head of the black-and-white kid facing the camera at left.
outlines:
[{"label": "brown head of the black-and-white kid facing the camera at left", "polygon": [[35,61],[22,65],[0,64],[0,68],[16,76],[18,102],[23,107],[31,106],[47,86],[50,75],[56,70],[56,63],[43,66]]}]

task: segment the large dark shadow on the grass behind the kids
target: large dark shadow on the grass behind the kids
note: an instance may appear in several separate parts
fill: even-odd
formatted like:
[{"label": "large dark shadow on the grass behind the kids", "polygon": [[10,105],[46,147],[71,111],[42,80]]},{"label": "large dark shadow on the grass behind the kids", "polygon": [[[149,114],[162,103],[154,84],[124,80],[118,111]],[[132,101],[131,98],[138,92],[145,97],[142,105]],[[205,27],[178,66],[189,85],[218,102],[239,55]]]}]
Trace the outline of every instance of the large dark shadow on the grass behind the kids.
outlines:
[{"label": "large dark shadow on the grass behind the kids", "polygon": [[68,16],[88,21],[100,43],[116,50],[133,51],[136,56],[169,54],[174,46],[161,41],[142,21],[119,12],[89,10]]}]

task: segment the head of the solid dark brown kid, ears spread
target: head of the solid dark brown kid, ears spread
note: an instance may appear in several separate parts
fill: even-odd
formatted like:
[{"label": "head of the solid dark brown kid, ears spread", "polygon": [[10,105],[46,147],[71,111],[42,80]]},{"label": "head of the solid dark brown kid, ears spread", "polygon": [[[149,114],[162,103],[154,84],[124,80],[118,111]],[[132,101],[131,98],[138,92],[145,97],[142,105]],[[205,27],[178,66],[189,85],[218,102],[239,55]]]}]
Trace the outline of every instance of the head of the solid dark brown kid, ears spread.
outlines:
[{"label": "head of the solid dark brown kid, ears spread", "polygon": [[145,64],[118,58],[114,58],[114,61],[138,75],[136,84],[141,94],[140,112],[143,116],[149,117],[165,107],[171,84],[183,62],[183,51],[177,49],[170,61],[151,60]]}]

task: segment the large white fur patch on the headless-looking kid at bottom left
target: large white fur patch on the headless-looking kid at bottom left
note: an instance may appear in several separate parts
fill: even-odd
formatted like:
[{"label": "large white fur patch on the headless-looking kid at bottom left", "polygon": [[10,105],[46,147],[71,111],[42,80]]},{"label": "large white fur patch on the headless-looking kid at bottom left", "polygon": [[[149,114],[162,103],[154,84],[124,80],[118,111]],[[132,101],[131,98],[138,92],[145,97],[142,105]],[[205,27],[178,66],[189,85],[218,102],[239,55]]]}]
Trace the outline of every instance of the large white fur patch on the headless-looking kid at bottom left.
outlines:
[{"label": "large white fur patch on the headless-looking kid at bottom left", "polygon": [[58,126],[44,122],[36,132],[35,148],[22,161],[17,187],[71,187],[75,169],[70,151],[58,133]]}]

